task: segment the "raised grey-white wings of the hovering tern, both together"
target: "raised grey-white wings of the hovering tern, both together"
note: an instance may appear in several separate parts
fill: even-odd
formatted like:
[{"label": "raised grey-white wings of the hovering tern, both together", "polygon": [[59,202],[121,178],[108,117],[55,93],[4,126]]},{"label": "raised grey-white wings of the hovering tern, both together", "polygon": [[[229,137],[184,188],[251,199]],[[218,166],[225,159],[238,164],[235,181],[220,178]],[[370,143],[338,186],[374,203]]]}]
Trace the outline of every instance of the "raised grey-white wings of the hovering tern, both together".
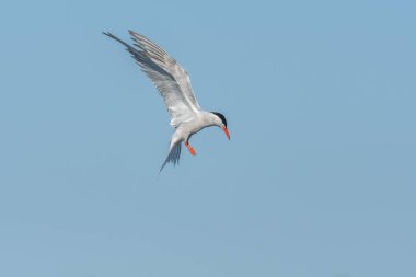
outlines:
[{"label": "raised grey-white wings of the hovering tern, both together", "polygon": [[142,35],[129,32],[137,48],[111,33],[104,34],[126,46],[141,70],[152,80],[164,100],[173,127],[192,119],[200,107],[195,99],[187,72],[158,45]]}]

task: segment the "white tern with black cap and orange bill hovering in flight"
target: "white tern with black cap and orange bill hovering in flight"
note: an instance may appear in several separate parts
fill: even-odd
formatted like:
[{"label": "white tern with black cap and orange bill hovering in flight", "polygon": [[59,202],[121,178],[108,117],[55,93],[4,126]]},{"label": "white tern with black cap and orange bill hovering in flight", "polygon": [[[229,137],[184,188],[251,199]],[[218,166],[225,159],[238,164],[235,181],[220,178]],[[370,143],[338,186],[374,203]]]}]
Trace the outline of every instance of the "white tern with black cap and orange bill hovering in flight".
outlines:
[{"label": "white tern with black cap and orange bill hovering in flight", "polygon": [[103,34],[126,47],[139,64],[141,70],[152,80],[167,107],[171,126],[175,128],[175,131],[171,138],[169,155],[160,171],[163,170],[167,162],[172,162],[174,165],[178,163],[182,141],[184,141],[190,154],[195,155],[196,151],[189,145],[189,139],[192,135],[205,127],[218,126],[230,139],[226,117],[220,113],[206,112],[198,105],[186,70],[149,38],[134,31],[129,31],[129,33],[135,42],[135,47],[111,33]]}]

